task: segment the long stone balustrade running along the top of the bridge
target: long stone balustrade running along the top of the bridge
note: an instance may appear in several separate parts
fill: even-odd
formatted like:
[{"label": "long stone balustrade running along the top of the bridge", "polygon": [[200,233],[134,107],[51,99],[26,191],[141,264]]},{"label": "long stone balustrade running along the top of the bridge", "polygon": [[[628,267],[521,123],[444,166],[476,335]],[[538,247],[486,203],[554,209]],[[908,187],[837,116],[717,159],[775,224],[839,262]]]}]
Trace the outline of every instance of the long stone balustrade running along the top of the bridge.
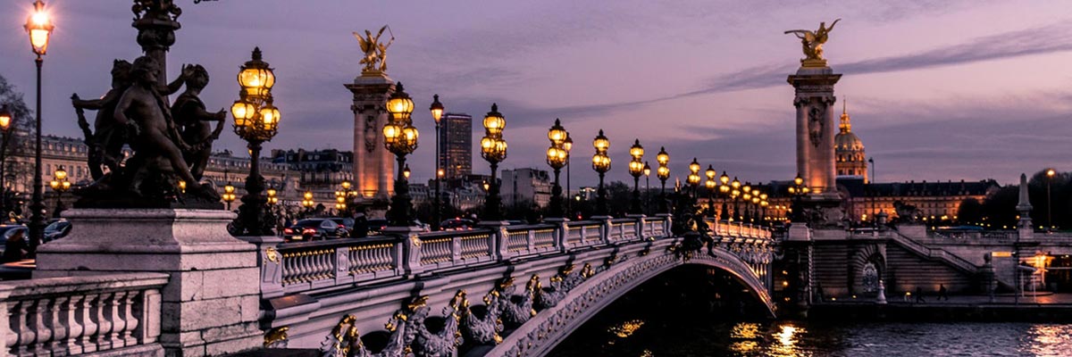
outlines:
[{"label": "long stone balustrade running along the top of the bridge", "polygon": [[[770,239],[769,229],[714,222],[727,238]],[[280,244],[253,241],[262,255],[262,293],[272,298],[347,284],[367,285],[503,261],[557,254],[605,244],[666,237],[670,221],[624,218],[562,221],[532,225],[490,225],[477,229],[404,233],[359,239]]]}]

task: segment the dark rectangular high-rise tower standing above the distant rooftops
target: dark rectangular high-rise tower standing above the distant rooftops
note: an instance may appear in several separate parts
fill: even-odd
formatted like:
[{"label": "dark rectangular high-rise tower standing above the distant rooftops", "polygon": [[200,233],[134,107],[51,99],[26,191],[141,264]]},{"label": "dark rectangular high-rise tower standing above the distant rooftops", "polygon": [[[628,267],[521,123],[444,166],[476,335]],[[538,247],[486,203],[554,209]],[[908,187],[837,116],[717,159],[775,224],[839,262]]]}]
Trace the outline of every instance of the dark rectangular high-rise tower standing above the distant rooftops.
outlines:
[{"label": "dark rectangular high-rise tower standing above the distant rooftops", "polygon": [[440,167],[445,178],[473,173],[473,117],[447,113],[440,127]]}]

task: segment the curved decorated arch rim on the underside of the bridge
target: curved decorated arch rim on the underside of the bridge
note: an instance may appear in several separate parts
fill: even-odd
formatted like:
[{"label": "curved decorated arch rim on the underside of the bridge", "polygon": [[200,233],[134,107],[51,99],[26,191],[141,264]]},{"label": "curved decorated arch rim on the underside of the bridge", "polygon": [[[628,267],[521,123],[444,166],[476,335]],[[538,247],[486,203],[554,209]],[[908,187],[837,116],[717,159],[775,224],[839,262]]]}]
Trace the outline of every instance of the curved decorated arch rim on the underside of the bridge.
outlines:
[{"label": "curved decorated arch rim on the underside of the bridge", "polygon": [[[660,244],[661,246],[661,244]],[[669,244],[665,244],[667,248]],[[627,258],[595,273],[569,291],[554,307],[535,314],[525,324],[503,339],[488,356],[542,356],[554,348],[585,322],[610,306],[626,293],[670,269],[699,265],[721,269],[748,287],[770,316],[774,316],[774,304],[765,284],[748,263],[736,254],[721,248],[706,250],[684,258],[678,254],[659,251]]]}]

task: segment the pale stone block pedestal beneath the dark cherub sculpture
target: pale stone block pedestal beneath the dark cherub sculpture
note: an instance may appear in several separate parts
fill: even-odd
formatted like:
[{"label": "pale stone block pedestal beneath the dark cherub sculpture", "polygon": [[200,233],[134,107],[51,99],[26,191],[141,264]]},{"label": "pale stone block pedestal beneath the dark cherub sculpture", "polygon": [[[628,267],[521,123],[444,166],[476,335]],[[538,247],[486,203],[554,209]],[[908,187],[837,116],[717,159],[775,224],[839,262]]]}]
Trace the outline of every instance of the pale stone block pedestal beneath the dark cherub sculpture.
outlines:
[{"label": "pale stone block pedestal beneath the dark cherub sculpture", "polygon": [[160,342],[167,356],[258,347],[254,244],[227,233],[235,213],[197,209],[72,209],[74,229],[41,246],[33,278],[163,272]]}]

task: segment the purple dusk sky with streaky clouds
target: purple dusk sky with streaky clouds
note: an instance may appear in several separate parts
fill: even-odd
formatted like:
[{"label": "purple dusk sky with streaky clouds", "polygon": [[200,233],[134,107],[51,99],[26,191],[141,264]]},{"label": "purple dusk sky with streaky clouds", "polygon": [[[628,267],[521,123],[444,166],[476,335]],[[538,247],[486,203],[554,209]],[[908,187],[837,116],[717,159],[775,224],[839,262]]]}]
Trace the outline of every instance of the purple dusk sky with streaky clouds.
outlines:
[{"label": "purple dusk sky with streaky clouds", "polygon": [[[825,54],[845,74],[836,94],[849,99],[879,181],[1014,182],[1021,172],[1072,169],[1072,6],[1063,2],[176,2],[182,29],[169,78],[181,63],[205,65],[212,81],[202,98],[210,109],[237,99],[235,74],[254,46],[274,66],[283,121],[269,149],[352,148],[343,84],[360,66],[351,32],[390,25],[397,40],[388,73],[415,98],[423,134],[411,161],[417,179],[434,164],[423,110],[433,93],[449,111],[475,119],[498,103],[510,145],[504,168],[547,168],[546,132],[562,118],[578,143],[575,188],[594,180],[591,137],[599,129],[611,139],[611,180],[629,179],[634,138],[653,163],[666,146],[674,176],[698,157],[742,180],[791,178],[786,76],[802,54],[783,31],[837,17]],[[103,94],[111,60],[139,55],[136,31],[130,1],[48,5],[57,29],[45,58],[45,132],[76,136],[68,98]],[[32,105],[33,57],[21,29],[30,8],[30,0],[3,0],[0,75]],[[482,128],[474,127],[478,138]],[[219,147],[243,151],[229,131]],[[474,170],[488,170],[478,153]]]}]

